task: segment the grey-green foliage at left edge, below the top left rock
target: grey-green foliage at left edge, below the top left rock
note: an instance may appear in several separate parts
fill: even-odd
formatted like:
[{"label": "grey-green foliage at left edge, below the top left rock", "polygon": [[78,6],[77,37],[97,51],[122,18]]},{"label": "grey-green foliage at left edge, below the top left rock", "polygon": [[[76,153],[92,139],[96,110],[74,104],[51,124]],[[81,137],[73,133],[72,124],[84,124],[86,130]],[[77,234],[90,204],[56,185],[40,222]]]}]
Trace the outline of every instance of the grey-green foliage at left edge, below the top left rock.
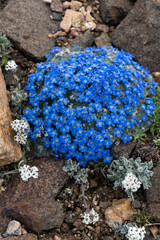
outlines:
[{"label": "grey-green foliage at left edge, below the top left rock", "polygon": [[0,67],[7,63],[6,55],[9,54],[10,41],[0,32]]}]

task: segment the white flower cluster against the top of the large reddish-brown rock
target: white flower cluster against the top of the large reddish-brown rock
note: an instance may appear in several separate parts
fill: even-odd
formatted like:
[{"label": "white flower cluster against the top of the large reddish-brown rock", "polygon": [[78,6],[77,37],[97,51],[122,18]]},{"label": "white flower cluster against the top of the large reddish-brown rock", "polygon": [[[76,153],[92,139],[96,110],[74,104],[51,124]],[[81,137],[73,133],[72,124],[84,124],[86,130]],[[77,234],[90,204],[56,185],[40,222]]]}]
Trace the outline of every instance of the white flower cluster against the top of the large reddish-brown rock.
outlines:
[{"label": "white flower cluster against the top of the large reddish-brown rock", "polygon": [[24,165],[20,167],[18,170],[21,174],[21,178],[25,182],[28,181],[28,179],[31,177],[38,178],[38,168],[35,166],[30,167],[29,165]]}]

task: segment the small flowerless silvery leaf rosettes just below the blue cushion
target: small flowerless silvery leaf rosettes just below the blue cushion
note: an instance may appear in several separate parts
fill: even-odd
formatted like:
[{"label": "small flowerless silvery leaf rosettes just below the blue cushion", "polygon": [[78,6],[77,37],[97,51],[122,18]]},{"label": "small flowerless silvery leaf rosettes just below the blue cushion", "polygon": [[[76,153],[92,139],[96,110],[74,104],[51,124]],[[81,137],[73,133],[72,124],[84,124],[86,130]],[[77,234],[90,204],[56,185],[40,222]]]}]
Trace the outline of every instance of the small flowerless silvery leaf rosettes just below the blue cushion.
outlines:
[{"label": "small flowerless silvery leaf rosettes just below the blue cushion", "polygon": [[63,171],[66,172],[69,177],[73,177],[76,184],[83,184],[85,188],[89,187],[88,170],[86,168],[80,168],[79,163],[76,161],[72,161],[72,159],[69,158],[63,167]]}]

